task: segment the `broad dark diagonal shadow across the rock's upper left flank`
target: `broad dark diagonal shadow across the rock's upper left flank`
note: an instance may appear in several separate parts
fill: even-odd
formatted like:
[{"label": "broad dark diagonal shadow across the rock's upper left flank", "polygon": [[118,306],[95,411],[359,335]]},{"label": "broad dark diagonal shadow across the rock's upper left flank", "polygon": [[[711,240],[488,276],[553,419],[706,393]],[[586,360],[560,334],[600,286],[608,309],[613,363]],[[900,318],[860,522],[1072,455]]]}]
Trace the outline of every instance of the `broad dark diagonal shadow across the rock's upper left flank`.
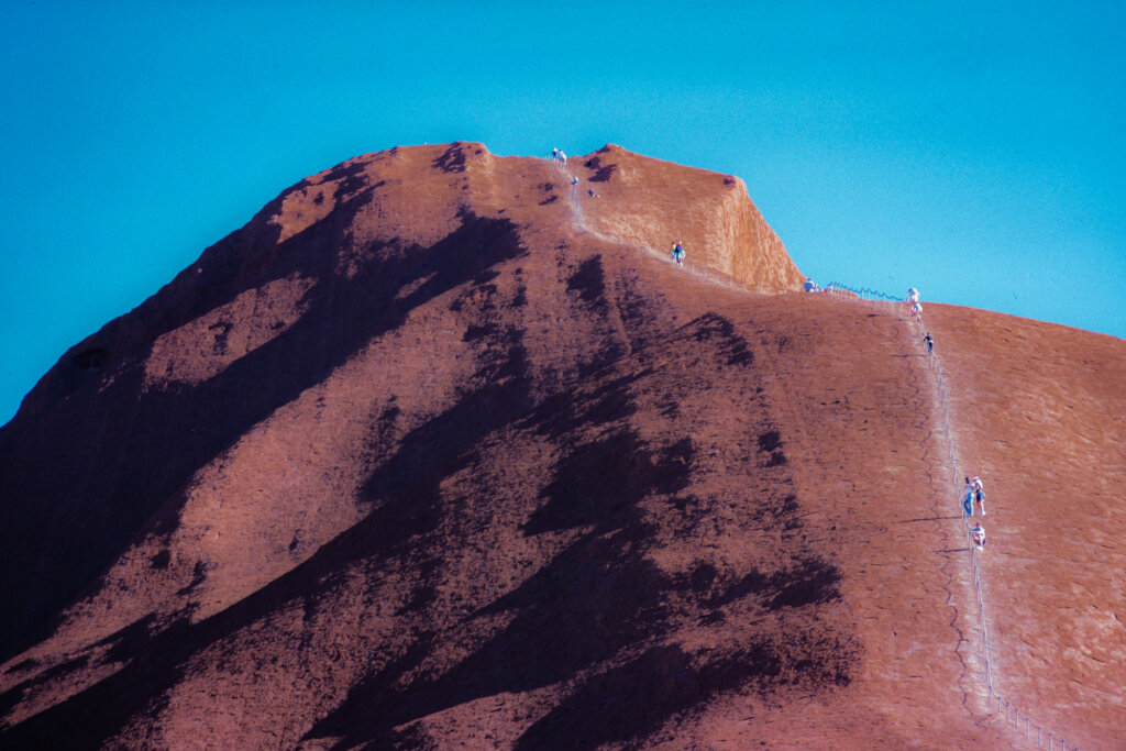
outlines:
[{"label": "broad dark diagonal shadow across the rock's upper left flank", "polygon": [[[79,383],[71,399],[27,419],[17,415],[0,429],[0,456],[6,457],[0,463],[0,600],[10,614],[0,623],[0,659],[18,653],[33,632],[50,633],[53,624],[45,620],[96,585],[96,576],[144,531],[158,508],[177,498],[182,502],[193,474],[251,426],[321,382],[374,337],[399,327],[411,310],[524,252],[508,220],[463,212],[461,226],[434,245],[373,245],[360,272],[343,277],[334,270],[337,249],[349,242],[355,213],[369,199],[361,194],[276,248],[240,250],[235,239],[226,257],[208,251],[200,276],[216,278],[222,290],[189,296],[187,313],[162,311],[152,322],[142,318],[158,331],[170,330],[212,310],[212,303],[233,298],[240,290],[221,277],[234,263],[229,257],[240,252],[261,266],[257,276],[233,269],[247,288],[294,272],[319,279],[296,323],[221,374],[198,385],[146,391],[144,352],[110,385],[102,387],[100,376]],[[410,294],[397,296],[412,283]],[[155,305],[150,301],[131,315],[143,316]],[[119,320],[107,329],[125,325]],[[111,331],[104,330],[95,339],[107,337]],[[55,370],[68,367],[96,373],[110,364],[83,370],[64,358]],[[166,509],[162,519],[161,531],[168,534],[176,509]]]}]

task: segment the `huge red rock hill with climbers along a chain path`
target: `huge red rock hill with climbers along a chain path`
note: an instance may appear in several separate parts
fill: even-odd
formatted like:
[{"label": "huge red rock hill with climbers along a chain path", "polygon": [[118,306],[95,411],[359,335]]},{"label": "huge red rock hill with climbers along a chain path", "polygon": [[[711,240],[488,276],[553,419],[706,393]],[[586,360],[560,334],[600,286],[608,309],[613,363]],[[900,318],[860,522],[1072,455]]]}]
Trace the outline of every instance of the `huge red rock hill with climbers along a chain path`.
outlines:
[{"label": "huge red rock hill with climbers along a chain path", "polygon": [[[1024,746],[913,322],[748,292],[802,277],[738,179],[568,169],[350,160],[60,360],[0,429],[0,742]],[[1120,748],[1126,342],[926,315],[993,687]]]}]

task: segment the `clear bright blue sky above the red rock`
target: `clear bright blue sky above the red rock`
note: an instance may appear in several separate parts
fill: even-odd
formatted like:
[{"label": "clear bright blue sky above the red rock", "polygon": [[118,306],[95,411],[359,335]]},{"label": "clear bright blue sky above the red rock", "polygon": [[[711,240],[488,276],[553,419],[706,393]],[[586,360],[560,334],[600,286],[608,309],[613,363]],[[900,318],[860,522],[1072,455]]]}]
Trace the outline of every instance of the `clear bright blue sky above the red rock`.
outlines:
[{"label": "clear bright blue sky above the red rock", "polygon": [[734,173],[819,281],[1126,338],[1126,6],[893,5],[7,0],[0,422],[285,187],[425,141]]}]

